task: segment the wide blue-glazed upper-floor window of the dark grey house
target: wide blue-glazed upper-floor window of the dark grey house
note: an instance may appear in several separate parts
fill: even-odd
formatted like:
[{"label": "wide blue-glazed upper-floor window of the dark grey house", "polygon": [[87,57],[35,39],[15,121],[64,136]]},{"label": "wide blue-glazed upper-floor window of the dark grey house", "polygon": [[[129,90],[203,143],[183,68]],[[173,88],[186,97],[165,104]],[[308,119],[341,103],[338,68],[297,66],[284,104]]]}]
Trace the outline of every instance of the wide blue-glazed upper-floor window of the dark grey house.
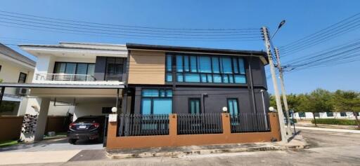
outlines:
[{"label": "wide blue-glazed upper-floor window of the dark grey house", "polygon": [[[174,57],[174,58],[172,58]],[[245,64],[242,57],[207,55],[167,55],[166,81],[172,81],[176,62],[176,81],[189,83],[246,83]]]}]

